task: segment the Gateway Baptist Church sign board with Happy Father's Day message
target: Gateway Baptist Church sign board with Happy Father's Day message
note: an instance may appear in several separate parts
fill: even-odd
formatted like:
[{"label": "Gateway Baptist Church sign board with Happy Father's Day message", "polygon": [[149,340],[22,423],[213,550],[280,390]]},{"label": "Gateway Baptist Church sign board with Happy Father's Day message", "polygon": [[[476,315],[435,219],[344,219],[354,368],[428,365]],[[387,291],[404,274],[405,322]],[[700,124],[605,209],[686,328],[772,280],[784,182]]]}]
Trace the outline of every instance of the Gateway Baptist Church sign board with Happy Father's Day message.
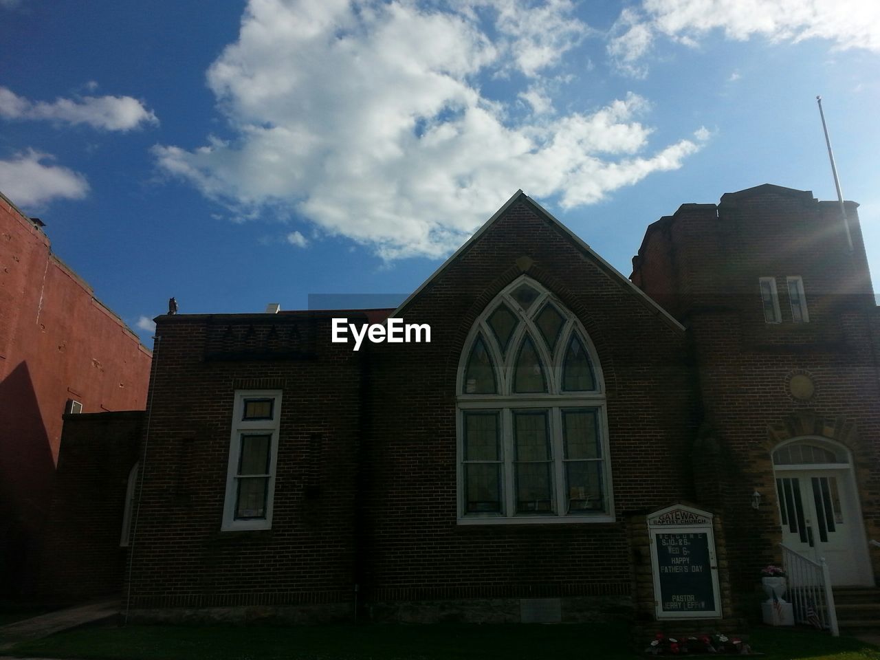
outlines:
[{"label": "Gateway Baptist Church sign board with Happy Father's Day message", "polygon": [[648,517],[657,619],[721,617],[712,514],[677,504]]}]

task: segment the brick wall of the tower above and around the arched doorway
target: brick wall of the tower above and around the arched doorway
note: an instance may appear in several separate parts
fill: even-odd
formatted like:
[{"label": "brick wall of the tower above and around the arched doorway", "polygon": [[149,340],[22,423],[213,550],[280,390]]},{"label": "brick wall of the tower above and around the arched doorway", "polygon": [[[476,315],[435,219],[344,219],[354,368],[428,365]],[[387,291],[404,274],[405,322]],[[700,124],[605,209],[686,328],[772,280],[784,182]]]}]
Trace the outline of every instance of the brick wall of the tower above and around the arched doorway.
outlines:
[{"label": "brick wall of the tower above and around the arched doorway", "polygon": [[[649,232],[634,260],[634,281],[651,296],[672,292],[688,326],[701,407],[693,469],[700,502],[724,514],[740,593],[754,589],[761,566],[780,559],[770,452],[787,436],[815,433],[847,444],[869,538],[880,529],[880,388],[870,326],[876,306],[855,208],[847,203],[853,254],[836,202],[766,186],[724,195],[716,211],[683,206],[662,231]],[[655,256],[657,245],[671,261]],[[803,277],[808,324],[792,322],[788,275]],[[777,277],[780,324],[764,320],[762,276]],[[796,372],[813,379],[811,400],[788,392]],[[763,495],[759,511],[749,501],[756,489]]]}]

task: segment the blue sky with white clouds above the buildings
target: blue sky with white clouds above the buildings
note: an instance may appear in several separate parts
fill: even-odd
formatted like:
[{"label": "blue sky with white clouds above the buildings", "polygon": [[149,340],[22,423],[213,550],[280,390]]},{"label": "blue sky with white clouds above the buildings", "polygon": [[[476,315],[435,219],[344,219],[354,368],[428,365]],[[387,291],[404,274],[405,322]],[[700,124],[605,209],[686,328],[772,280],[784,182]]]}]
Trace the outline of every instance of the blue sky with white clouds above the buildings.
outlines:
[{"label": "blue sky with white clouds above the buildings", "polygon": [[836,199],[818,94],[880,274],[874,0],[0,0],[0,191],[150,347],[405,296],[518,189],[624,275],[683,203]]}]

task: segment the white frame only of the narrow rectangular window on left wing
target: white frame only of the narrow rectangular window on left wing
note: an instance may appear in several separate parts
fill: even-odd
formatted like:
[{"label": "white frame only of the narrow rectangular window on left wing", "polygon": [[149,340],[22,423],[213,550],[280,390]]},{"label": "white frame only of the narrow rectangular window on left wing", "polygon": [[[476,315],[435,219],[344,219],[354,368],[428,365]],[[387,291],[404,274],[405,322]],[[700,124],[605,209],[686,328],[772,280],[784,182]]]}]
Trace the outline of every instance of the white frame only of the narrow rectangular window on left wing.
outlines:
[{"label": "white frame only of the narrow rectangular window on left wing", "polygon": [[[242,419],[245,413],[245,401],[249,399],[271,399],[272,419]],[[272,510],[275,500],[275,467],[278,458],[278,434],[281,426],[281,404],[281,390],[237,390],[235,392],[235,400],[232,406],[229,465],[226,472],[226,496],[224,499],[223,524],[221,526],[221,531],[223,532],[272,529]],[[236,519],[238,460],[241,454],[241,436],[254,432],[265,432],[271,436],[265,516],[261,518]]]}]

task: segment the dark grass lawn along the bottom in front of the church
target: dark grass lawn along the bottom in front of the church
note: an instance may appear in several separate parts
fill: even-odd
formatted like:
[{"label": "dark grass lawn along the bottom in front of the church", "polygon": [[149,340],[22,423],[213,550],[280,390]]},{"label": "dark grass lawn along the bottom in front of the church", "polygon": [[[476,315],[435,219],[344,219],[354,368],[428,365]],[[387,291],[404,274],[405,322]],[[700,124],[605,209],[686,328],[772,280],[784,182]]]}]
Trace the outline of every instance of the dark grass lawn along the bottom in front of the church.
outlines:
[{"label": "dark grass lawn along the bottom in front of the church", "polygon": [[[853,637],[754,628],[752,648],[767,658],[880,660]],[[23,642],[12,656],[114,660],[617,660],[636,657],[625,625],[314,627],[88,627]]]}]

